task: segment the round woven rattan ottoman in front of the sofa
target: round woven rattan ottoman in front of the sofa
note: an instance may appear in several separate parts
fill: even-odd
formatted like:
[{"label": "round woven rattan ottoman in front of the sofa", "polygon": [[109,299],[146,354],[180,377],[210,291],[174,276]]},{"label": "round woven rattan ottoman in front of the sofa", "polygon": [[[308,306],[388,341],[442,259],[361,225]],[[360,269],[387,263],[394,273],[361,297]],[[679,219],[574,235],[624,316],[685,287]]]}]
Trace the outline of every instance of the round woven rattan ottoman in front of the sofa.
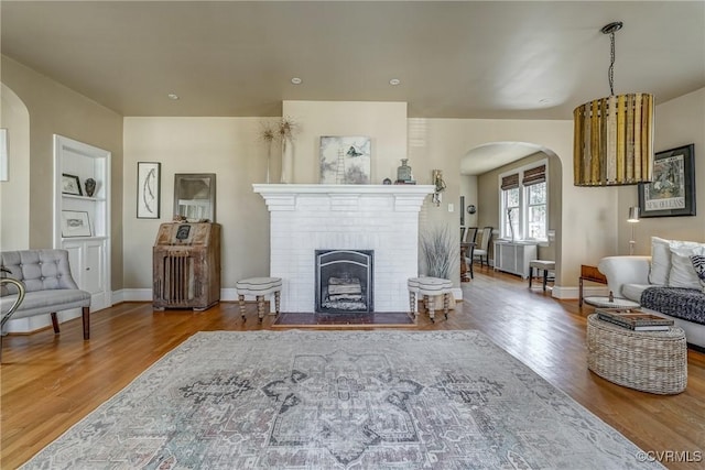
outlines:
[{"label": "round woven rattan ottoman in front of the sofa", "polygon": [[658,394],[675,394],[687,383],[687,345],[679,327],[668,331],[632,331],[587,317],[587,367],[618,385]]}]

